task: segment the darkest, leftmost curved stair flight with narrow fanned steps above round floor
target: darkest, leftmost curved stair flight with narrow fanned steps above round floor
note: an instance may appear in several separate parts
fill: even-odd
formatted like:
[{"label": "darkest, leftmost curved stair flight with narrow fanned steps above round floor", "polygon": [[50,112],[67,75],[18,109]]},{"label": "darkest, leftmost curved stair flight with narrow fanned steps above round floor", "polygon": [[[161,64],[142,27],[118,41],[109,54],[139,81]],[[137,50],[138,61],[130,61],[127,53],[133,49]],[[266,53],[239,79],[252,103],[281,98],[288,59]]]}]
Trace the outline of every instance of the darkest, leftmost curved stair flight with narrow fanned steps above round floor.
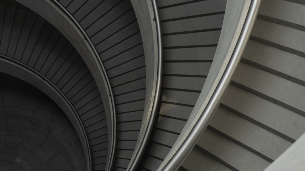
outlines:
[{"label": "darkest, leftmost curved stair flight with narrow fanned steps above round floor", "polygon": [[93,170],[106,165],[106,116],[93,77],[70,42],[41,16],[1,5],[0,53],[36,70],[69,99],[88,137]]}]

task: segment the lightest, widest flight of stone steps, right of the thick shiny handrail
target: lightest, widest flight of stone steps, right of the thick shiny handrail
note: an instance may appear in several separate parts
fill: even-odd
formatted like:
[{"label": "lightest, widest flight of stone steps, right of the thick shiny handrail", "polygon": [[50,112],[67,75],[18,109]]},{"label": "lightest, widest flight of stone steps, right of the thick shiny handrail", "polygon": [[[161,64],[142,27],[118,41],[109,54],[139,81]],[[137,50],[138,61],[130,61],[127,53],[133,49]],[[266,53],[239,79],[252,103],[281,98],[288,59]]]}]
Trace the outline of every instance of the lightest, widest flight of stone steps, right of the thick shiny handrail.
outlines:
[{"label": "lightest, widest flight of stone steps, right of the thick shiny handrail", "polygon": [[182,164],[186,170],[263,170],[304,133],[300,35],[305,29],[304,4],[299,3],[261,2],[241,62],[209,126]]}]

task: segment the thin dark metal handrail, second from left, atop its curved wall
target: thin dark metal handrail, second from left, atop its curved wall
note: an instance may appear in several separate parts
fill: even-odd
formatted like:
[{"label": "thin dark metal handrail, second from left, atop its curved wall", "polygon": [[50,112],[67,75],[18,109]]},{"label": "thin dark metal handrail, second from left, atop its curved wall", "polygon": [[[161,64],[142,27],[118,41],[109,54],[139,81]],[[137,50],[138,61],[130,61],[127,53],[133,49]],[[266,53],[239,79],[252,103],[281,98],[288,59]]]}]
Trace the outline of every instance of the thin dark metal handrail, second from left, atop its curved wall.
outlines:
[{"label": "thin dark metal handrail, second from left, atop its curved wall", "polygon": [[71,19],[71,21],[74,22],[74,24],[77,26],[77,28],[83,34],[84,39],[89,43],[89,46],[93,50],[93,53],[95,54],[96,59],[99,61],[99,64],[102,67],[102,71],[103,71],[103,74],[104,74],[104,77],[105,77],[105,80],[106,80],[106,84],[108,86],[109,96],[110,96],[110,99],[111,99],[111,104],[110,105],[112,106],[112,115],[111,115],[112,116],[112,118],[111,118],[111,121],[112,121],[112,124],[111,124],[112,125],[112,127],[111,127],[112,139],[110,141],[111,142],[110,157],[108,156],[109,160],[107,161],[107,165],[106,165],[106,170],[112,170],[113,164],[114,164],[114,158],[115,158],[115,154],[116,154],[116,149],[117,149],[117,119],[116,119],[116,109],[115,109],[115,104],[114,104],[114,96],[113,96],[113,92],[112,92],[112,87],[111,87],[110,80],[108,78],[105,66],[102,63],[102,60],[99,57],[99,53],[95,49],[95,46],[92,43],[91,39],[89,38],[89,36],[87,35],[87,33],[85,32],[83,27],[74,18],[74,16],[67,9],[65,9],[63,7],[63,5],[61,5],[58,1],[51,0],[51,2],[53,2],[59,9],[61,9]]}]

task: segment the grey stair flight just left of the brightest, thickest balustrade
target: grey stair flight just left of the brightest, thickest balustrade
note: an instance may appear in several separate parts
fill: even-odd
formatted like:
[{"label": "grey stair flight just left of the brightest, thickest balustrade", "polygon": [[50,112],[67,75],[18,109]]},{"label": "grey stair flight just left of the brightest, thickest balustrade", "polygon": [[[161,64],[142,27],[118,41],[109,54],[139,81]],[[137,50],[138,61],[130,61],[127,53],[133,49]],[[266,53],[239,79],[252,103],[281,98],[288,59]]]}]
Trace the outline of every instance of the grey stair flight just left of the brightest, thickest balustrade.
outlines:
[{"label": "grey stair flight just left of the brightest, thickest balustrade", "polygon": [[[159,112],[139,169],[156,170],[181,133],[213,61],[224,1],[157,1],[163,40]],[[202,24],[204,23],[204,24]]]}]

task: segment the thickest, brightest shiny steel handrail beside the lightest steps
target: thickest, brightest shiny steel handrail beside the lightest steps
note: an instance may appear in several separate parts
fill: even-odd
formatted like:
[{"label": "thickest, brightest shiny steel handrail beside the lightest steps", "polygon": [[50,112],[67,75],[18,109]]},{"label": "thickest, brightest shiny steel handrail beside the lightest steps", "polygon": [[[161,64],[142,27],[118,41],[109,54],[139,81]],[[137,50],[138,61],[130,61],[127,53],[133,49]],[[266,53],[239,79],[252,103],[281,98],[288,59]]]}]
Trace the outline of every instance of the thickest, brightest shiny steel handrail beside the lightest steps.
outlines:
[{"label": "thickest, brightest shiny steel handrail beside the lightest steps", "polygon": [[[185,140],[181,142],[180,146],[178,146],[178,149],[173,156],[167,156],[167,162],[164,164],[163,167],[159,167],[158,170],[177,170],[183,160],[188,155],[188,153],[196,145],[196,142],[207,127],[211,118],[213,117],[216,109],[218,108],[221,102],[222,97],[224,96],[231,82],[233,73],[241,59],[241,55],[243,50],[245,49],[247,40],[249,39],[251,29],[257,16],[259,5],[260,0],[251,1],[245,22],[242,26],[241,33],[234,47],[233,53],[229,59],[228,65],[226,66],[224,73],[222,74],[221,79],[216,86],[215,91],[208,100],[206,107],[199,116],[198,120],[195,122],[195,125],[192,127]],[[166,159],[164,159],[164,161],[165,160]]]}]

